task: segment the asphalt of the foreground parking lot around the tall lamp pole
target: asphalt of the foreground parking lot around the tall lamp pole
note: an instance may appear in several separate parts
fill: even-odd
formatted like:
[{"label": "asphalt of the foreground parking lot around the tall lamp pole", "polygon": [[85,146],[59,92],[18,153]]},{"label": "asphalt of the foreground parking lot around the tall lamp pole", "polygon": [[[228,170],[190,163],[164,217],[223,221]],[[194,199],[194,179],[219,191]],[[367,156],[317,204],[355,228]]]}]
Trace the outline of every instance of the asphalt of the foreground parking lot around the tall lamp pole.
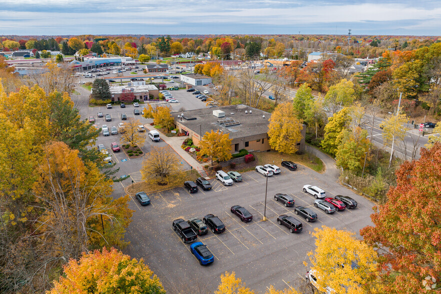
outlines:
[{"label": "asphalt of the foreground parking lot around the tall lamp pole", "polygon": [[[304,279],[303,260],[306,253],[314,248],[310,232],[321,225],[347,228],[358,234],[360,228],[370,224],[371,202],[350,190],[330,181],[325,174],[318,174],[299,166],[296,171],[282,167],[282,172],[268,178],[266,202],[267,221],[261,221],[264,213],[265,180],[255,172],[244,174],[243,181],[223,186],[211,179],[213,188],[190,194],[183,188],[153,193],[151,204],[140,206],[132,197],[130,207],[135,210],[132,223],[127,229],[126,239],[130,245],[125,251],[144,261],[161,279],[165,289],[172,293],[212,293],[216,289],[220,274],[235,271],[236,276],[246,282],[246,286],[265,291],[266,287],[295,287]],[[355,209],[325,214],[313,206],[314,198],[303,193],[304,184],[314,184],[325,189],[327,196],[343,194],[358,202]],[[318,219],[306,222],[294,214],[294,207],[285,207],[274,201],[275,193],[287,193],[295,200],[296,206],[307,206],[315,211]],[[230,212],[232,205],[245,207],[253,220],[244,223]],[[171,228],[176,218],[188,219],[205,214],[218,216],[226,226],[226,231],[198,236],[198,241],[207,245],[214,255],[214,263],[200,266],[190,253],[189,244],[184,244]],[[277,224],[280,214],[292,215],[303,223],[300,233]]]}]

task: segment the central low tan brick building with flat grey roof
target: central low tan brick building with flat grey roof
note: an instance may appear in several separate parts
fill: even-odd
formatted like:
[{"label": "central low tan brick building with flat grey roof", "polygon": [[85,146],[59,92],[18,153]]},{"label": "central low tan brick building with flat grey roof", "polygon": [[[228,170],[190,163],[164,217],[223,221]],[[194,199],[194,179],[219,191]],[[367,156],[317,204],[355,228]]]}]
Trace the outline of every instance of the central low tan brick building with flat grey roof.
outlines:
[{"label": "central low tan brick building with flat grey roof", "polygon": [[[268,119],[271,113],[243,104],[202,108],[182,112],[172,112],[175,127],[186,132],[195,145],[199,144],[205,132],[222,131],[228,133],[231,140],[231,153],[240,149],[248,151],[269,151]],[[297,143],[300,151],[305,150],[305,132],[303,125],[302,139]]]}]

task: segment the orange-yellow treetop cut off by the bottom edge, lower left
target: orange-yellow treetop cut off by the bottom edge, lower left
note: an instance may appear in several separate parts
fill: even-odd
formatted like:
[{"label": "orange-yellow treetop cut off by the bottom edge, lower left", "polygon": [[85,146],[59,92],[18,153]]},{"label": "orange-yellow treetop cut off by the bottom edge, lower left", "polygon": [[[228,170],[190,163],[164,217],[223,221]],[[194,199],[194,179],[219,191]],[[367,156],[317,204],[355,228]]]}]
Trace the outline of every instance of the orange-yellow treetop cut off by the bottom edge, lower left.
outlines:
[{"label": "orange-yellow treetop cut off by the bottom edge, lower left", "polygon": [[47,293],[130,293],[165,294],[159,278],[142,258],[122,254],[115,248],[83,253],[70,259],[64,274]]}]

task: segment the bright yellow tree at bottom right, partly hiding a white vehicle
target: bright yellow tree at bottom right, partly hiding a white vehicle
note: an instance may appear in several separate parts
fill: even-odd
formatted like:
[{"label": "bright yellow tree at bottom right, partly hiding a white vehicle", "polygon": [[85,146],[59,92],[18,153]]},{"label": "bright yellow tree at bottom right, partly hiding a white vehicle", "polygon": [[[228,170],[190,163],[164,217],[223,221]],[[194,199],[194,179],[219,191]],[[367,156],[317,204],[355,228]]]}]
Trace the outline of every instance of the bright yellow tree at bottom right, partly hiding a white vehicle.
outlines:
[{"label": "bright yellow tree at bottom right, partly hiding a white vehicle", "polygon": [[308,252],[315,270],[318,290],[332,288],[335,293],[375,292],[377,273],[375,250],[355,233],[322,226],[314,228],[315,250]]}]

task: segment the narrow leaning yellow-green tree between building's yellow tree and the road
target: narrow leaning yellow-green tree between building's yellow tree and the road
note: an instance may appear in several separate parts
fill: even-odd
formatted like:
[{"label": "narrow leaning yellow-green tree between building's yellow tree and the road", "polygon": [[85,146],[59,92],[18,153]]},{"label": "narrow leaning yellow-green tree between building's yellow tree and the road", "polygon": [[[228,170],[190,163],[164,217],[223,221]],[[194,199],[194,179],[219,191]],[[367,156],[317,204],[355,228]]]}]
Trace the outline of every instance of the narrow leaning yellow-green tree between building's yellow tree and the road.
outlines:
[{"label": "narrow leaning yellow-green tree between building's yellow tree and the road", "polygon": [[349,124],[351,117],[349,109],[344,107],[334,115],[328,118],[327,124],[324,126],[324,137],[321,141],[321,147],[329,154],[335,155],[340,145],[341,136],[339,134]]}]

